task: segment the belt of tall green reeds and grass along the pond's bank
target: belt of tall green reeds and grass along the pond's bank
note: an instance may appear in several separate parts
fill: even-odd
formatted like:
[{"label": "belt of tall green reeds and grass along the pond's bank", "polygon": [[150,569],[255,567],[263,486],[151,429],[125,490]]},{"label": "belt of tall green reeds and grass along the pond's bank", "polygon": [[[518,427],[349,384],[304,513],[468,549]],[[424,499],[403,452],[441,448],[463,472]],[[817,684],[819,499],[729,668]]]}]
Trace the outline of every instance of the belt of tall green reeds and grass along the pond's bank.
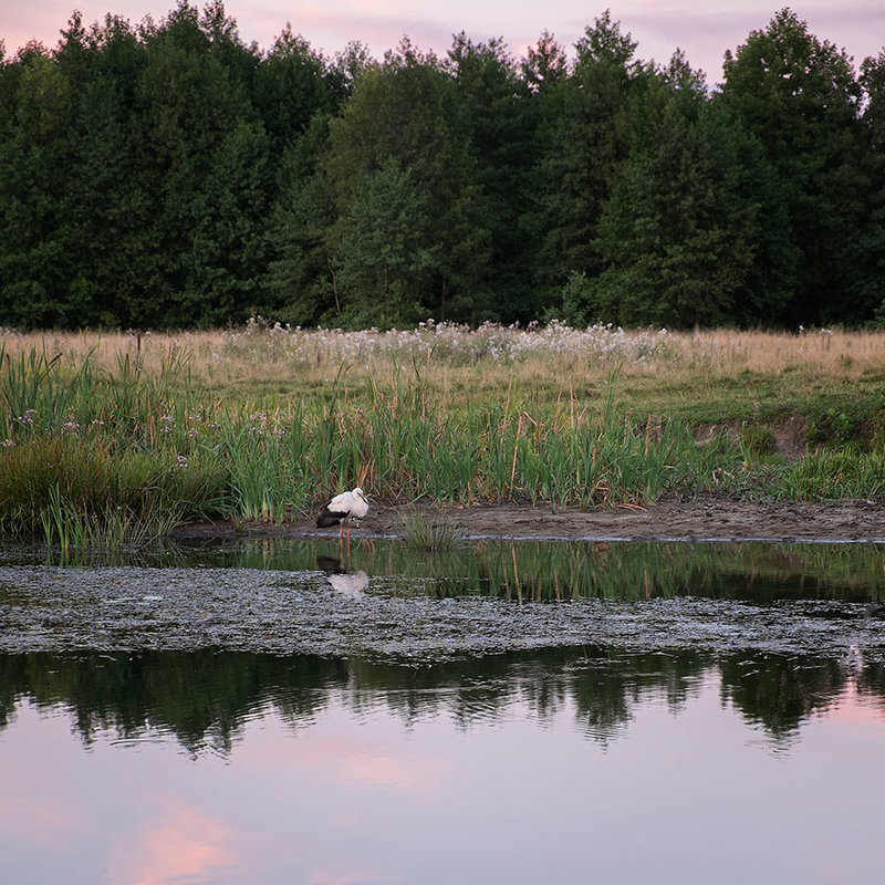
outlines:
[{"label": "belt of tall green reeds and grass along the pond's bank", "polygon": [[97,371],[88,356],[0,347],[0,532],[116,543],[177,521],[281,522],[355,485],[376,499],[562,508],[643,506],[674,489],[885,494],[874,454],[750,461],[725,434],[698,444],[685,421],[623,414],[617,373],[596,405],[524,381],[442,403],[416,363],[355,389],[345,372],[315,396],[251,402],[210,397],[181,350],[152,374],[137,353]]}]

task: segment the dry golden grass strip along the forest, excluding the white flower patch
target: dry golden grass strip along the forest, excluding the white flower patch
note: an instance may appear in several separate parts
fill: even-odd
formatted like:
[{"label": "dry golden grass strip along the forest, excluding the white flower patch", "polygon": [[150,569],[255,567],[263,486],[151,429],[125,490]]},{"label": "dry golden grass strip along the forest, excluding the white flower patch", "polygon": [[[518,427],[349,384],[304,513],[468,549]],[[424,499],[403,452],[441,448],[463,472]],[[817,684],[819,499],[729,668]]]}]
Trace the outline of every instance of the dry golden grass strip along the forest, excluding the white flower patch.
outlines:
[{"label": "dry golden grass strip along the forest, excluding the white flower patch", "polygon": [[[437,330],[445,329],[437,326]],[[483,354],[473,360],[467,347],[471,337],[482,334],[482,330],[468,331],[450,326],[448,336],[449,353],[441,365],[458,362],[452,352],[459,341],[465,342],[465,361],[481,362]],[[543,331],[527,331],[492,326],[502,340],[531,341],[535,346],[513,348],[518,356],[501,361],[504,368],[512,371],[513,362],[525,363],[532,367],[545,365],[549,369],[598,373],[611,366],[612,360],[601,360],[598,351],[582,353],[582,341],[575,340],[573,346],[560,344],[551,348],[544,346]],[[571,331],[571,330],[570,330]],[[207,331],[207,332],[31,332],[15,333],[0,330],[0,341],[8,354],[28,352],[32,348],[48,354],[60,353],[75,361],[92,353],[97,366],[115,367],[119,358],[136,356],[148,371],[159,371],[169,352],[185,353],[190,357],[191,368],[204,377],[225,374],[229,379],[242,378],[285,378],[289,371],[299,368],[320,377],[329,374],[330,364],[337,366],[342,360],[350,360],[360,369],[378,368],[386,364],[392,353],[400,356],[409,350],[409,344],[419,341],[423,346],[415,348],[420,353],[421,369],[438,367],[433,357],[434,336],[437,332],[341,332],[280,330],[259,326],[253,330]],[[741,332],[735,330],[712,330],[695,332],[623,332],[601,330],[596,337],[617,339],[631,342],[639,337],[655,339],[660,353],[653,358],[627,363],[624,368],[631,373],[659,374],[678,369],[696,371],[705,368],[717,374],[733,374],[743,369],[761,373],[779,373],[796,368],[813,369],[827,374],[860,376],[870,372],[885,372],[885,332],[842,332],[809,331],[799,334],[775,332]],[[622,354],[613,342],[613,356]],[[551,355],[561,357],[551,365]],[[623,354],[626,356],[626,354]],[[486,362],[496,362],[494,354]]]}]

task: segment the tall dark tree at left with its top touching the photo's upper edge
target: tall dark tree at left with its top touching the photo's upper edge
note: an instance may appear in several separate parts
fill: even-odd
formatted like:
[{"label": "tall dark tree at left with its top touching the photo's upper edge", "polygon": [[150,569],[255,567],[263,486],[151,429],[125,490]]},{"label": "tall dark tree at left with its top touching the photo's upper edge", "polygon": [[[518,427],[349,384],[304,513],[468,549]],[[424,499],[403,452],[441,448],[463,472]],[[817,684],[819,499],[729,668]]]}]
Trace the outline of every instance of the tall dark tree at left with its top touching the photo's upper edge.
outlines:
[{"label": "tall dark tree at left with its top touching the photo's upper edge", "polygon": [[240,69],[222,61],[236,31],[212,24],[179,7],[146,49],[136,106],[154,254],[129,302],[136,326],[244,321],[261,271],[267,140]]}]

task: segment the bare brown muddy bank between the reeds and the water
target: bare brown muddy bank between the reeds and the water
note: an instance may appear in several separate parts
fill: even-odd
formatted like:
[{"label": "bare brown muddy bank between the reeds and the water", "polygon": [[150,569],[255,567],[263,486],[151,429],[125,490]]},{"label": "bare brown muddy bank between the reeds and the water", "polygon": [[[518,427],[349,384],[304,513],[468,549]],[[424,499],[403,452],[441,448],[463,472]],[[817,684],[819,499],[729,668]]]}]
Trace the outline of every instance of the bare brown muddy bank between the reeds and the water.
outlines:
[{"label": "bare brown muddy bank between the reeds and the water", "polygon": [[[438,509],[427,504],[392,506],[373,501],[354,535],[399,537],[404,513],[455,522],[466,538],[527,540],[766,540],[885,542],[885,506],[874,501],[830,503],[782,501],[751,503],[714,496],[668,498],[647,509],[555,510],[512,504]],[[310,518],[285,525],[212,523],[183,527],[179,538],[303,538],[336,534],[319,531]]]}]

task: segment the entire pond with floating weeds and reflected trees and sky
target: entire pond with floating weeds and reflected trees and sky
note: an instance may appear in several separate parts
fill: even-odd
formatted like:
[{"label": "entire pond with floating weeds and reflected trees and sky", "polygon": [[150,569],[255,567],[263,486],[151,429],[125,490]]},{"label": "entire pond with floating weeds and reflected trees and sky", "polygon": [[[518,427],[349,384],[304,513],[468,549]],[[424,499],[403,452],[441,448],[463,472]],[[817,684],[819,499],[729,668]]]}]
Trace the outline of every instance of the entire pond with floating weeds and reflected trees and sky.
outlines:
[{"label": "entire pond with floating weeds and reflected trees and sky", "polygon": [[4,878],[878,883],[884,565],[4,545]]}]

